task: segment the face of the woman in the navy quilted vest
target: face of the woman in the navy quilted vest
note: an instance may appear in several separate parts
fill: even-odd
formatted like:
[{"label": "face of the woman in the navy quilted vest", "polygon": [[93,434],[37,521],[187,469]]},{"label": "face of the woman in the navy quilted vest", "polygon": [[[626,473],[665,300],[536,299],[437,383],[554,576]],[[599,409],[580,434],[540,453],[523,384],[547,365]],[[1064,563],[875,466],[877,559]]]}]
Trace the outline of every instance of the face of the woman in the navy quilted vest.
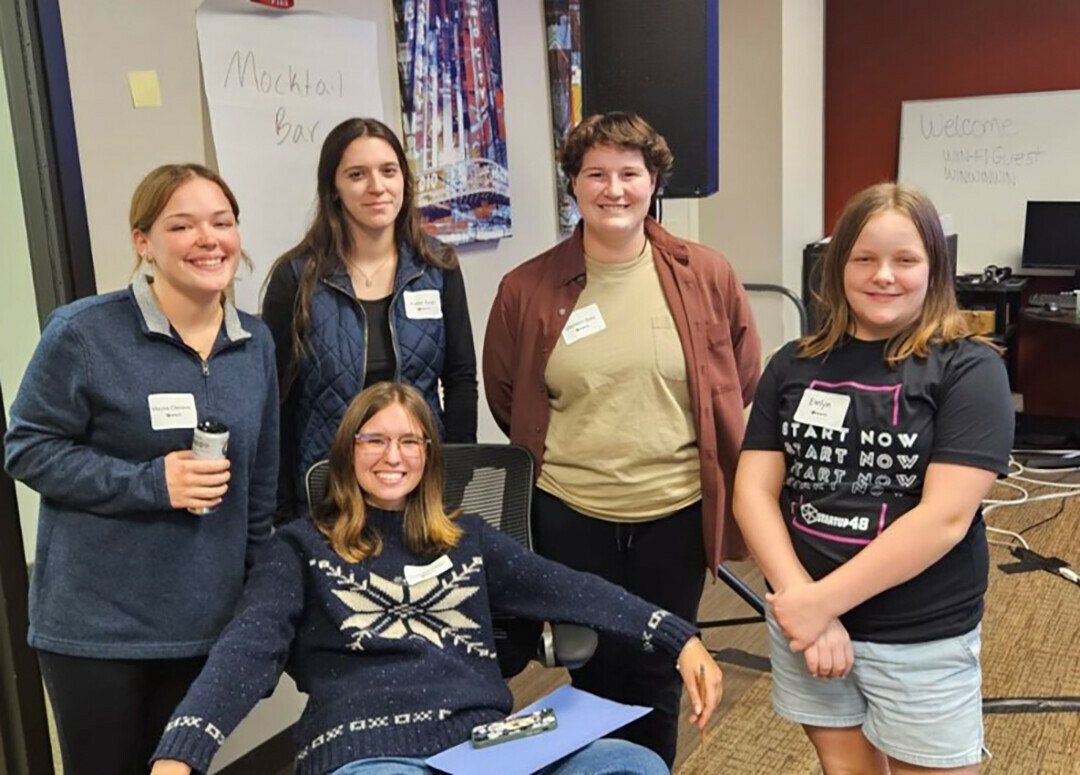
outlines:
[{"label": "face of the woman in the navy quilted vest", "polygon": [[334,187],[350,228],[373,236],[393,229],[404,201],[404,172],[394,149],[381,137],[357,137],[349,144]]}]

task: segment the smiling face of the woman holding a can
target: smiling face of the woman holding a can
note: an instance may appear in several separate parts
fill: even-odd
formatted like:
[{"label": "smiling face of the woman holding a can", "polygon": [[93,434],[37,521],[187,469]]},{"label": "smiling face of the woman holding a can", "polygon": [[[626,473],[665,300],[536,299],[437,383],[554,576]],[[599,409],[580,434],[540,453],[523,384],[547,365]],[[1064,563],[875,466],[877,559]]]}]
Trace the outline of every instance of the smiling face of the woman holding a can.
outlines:
[{"label": "smiling face of the woman holding a can", "polygon": [[240,233],[225,192],[192,177],[177,187],[146,232],[132,233],[135,249],[156,268],[154,288],[197,300],[216,300],[240,262]]}]

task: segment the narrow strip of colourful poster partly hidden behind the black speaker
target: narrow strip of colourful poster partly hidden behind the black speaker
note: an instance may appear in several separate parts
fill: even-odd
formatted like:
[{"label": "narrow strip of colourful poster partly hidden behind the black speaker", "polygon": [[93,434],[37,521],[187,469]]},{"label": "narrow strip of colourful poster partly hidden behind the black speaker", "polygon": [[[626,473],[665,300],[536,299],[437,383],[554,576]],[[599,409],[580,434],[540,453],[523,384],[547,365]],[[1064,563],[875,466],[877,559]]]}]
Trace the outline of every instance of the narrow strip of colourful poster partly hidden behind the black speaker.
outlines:
[{"label": "narrow strip of colourful poster partly hidden behind the black speaker", "polygon": [[558,154],[570,130],[581,119],[581,0],[544,0],[548,30],[548,76],[551,80],[551,118],[555,141],[555,181],[558,188],[558,231],[573,230],[578,206],[566,190]]}]

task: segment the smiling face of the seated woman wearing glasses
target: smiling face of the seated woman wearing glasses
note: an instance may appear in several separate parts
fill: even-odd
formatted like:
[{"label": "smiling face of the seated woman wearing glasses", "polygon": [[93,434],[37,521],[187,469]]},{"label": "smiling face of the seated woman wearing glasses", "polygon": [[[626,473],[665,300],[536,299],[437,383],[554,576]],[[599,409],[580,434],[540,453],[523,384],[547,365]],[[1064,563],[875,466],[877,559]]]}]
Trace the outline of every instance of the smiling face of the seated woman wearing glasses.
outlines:
[{"label": "smiling face of the seated woman wearing glasses", "polygon": [[353,472],[364,500],[387,511],[402,511],[423,477],[423,429],[401,404],[380,409],[360,426],[353,447]]}]

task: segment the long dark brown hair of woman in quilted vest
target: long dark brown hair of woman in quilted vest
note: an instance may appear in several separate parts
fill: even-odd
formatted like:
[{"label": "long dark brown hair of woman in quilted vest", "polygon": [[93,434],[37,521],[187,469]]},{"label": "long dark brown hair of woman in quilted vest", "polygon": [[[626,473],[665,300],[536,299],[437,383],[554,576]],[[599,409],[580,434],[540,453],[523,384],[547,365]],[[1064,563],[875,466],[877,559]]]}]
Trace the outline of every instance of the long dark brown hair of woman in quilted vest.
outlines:
[{"label": "long dark brown hair of woman in quilted vest", "polygon": [[[420,257],[422,261],[438,269],[454,269],[458,259],[447,245],[441,245],[423,229],[420,221],[420,209],[416,205],[416,181],[409,172],[405,149],[397,136],[389,126],[375,119],[346,119],[330,130],[323,140],[319,154],[319,168],[315,177],[315,215],[303,239],[293,248],[274,261],[268,278],[278,268],[288,263],[294,258],[303,258],[303,270],[300,272],[299,293],[296,297],[296,308],[293,315],[293,363],[299,363],[303,353],[311,327],[311,297],[315,284],[332,275],[342,266],[345,257],[352,250],[352,235],[337,192],[337,169],[341,157],[353,140],[360,137],[376,137],[386,140],[397,157],[397,165],[404,181],[402,208],[394,219],[394,239],[405,243]],[[294,373],[287,379],[292,379]],[[287,386],[282,386],[282,395]]]}]

